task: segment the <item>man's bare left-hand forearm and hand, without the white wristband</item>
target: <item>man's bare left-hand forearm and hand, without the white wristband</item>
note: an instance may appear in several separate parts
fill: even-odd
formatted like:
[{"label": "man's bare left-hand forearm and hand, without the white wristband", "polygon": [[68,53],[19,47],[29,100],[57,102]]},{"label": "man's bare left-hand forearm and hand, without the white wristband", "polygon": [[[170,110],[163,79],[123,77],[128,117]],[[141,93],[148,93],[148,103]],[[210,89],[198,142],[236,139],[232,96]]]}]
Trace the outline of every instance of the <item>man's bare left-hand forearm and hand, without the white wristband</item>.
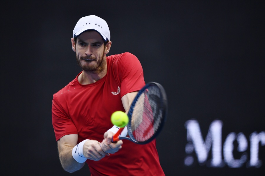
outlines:
[{"label": "man's bare left-hand forearm and hand, without the white wristband", "polygon": [[[64,170],[71,173],[80,170],[85,165],[85,161],[79,163],[72,155],[72,150],[77,145],[77,138],[77,134],[69,134],[63,136],[57,141],[61,165]],[[98,141],[85,141],[83,145],[84,157],[95,161],[104,158],[107,153],[101,149],[100,144],[101,143]]]}]

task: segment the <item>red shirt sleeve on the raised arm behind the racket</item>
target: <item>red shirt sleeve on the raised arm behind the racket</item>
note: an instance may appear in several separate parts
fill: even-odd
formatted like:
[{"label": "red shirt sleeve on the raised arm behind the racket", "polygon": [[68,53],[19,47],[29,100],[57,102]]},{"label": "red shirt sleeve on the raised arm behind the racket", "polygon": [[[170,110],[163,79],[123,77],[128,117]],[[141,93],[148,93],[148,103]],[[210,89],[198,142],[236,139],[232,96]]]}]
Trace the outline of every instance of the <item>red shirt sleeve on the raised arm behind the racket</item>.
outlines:
[{"label": "red shirt sleeve on the raised arm behind the racket", "polygon": [[124,53],[118,62],[121,81],[121,97],[145,86],[143,68],[138,58],[131,53]]}]

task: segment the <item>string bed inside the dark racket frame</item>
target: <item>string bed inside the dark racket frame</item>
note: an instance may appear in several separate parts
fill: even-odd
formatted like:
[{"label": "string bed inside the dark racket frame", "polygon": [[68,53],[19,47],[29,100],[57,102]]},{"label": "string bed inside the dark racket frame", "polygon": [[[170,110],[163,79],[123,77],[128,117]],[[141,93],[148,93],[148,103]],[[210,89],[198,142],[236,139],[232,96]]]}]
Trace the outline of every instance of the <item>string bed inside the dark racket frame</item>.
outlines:
[{"label": "string bed inside the dark racket frame", "polygon": [[137,141],[150,139],[160,126],[162,95],[156,86],[148,87],[139,97],[132,113],[133,136]]}]

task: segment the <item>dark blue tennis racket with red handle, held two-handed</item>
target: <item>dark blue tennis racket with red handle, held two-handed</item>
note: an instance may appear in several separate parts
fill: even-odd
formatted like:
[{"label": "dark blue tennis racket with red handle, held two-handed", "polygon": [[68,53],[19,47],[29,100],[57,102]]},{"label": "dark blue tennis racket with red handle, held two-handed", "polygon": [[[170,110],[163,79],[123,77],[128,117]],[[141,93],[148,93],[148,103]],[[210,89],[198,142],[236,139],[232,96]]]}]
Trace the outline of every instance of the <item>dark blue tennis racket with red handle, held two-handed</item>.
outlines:
[{"label": "dark blue tennis racket with red handle, held two-handed", "polygon": [[[151,142],[160,133],[167,116],[168,103],[161,84],[149,82],[135,96],[128,111],[129,137],[119,137],[123,128],[114,134],[112,142],[127,139],[137,144]],[[127,136],[128,136],[127,135]]]}]

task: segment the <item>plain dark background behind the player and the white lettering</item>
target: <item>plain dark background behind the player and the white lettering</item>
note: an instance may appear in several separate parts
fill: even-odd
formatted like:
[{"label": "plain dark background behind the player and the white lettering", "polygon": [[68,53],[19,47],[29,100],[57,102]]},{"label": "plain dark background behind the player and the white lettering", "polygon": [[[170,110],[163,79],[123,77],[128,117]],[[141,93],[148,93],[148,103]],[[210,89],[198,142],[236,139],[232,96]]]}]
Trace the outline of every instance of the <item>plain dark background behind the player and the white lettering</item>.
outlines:
[{"label": "plain dark background behind the player and the white lettering", "polygon": [[142,63],[145,82],[159,82],[168,94],[168,118],[157,138],[166,175],[262,175],[261,145],[259,168],[185,166],[184,124],[198,120],[205,138],[211,122],[220,119],[223,141],[231,132],[249,139],[254,131],[265,131],[264,9],[264,1],[4,2],[2,171],[89,175],[87,165],[73,174],[62,169],[51,106],[52,95],[81,71],[71,48],[74,26],[94,14],[109,25],[108,55],[133,53]]}]

